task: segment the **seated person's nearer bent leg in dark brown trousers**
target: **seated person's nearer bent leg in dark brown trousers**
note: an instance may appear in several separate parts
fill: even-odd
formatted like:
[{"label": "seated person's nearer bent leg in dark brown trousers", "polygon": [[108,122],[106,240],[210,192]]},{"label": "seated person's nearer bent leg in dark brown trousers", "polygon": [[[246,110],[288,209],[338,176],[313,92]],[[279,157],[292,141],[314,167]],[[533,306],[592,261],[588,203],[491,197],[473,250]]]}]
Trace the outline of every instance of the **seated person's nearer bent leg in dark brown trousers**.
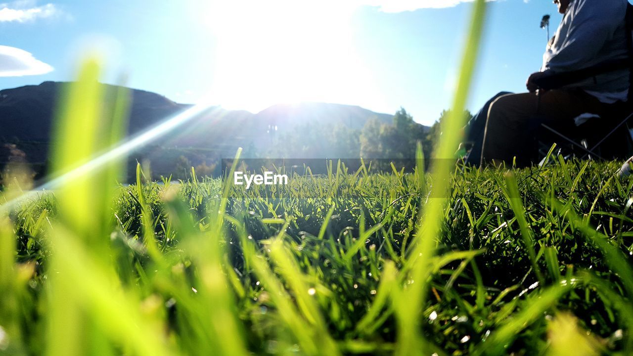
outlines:
[{"label": "seated person's nearer bent leg in dark brown trousers", "polygon": [[582,113],[599,113],[605,104],[582,91],[552,90],[541,94],[510,94],[496,99],[488,111],[482,164],[494,161],[528,165],[532,140],[541,123],[564,130]]}]

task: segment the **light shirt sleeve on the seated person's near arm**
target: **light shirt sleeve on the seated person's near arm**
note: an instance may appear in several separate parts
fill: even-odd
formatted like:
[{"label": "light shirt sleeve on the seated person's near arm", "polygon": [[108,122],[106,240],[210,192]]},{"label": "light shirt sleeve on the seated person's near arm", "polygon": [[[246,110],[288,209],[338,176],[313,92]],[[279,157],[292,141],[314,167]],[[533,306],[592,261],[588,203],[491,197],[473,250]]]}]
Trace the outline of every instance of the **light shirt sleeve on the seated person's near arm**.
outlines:
[{"label": "light shirt sleeve on the seated person's near arm", "polygon": [[567,37],[544,69],[568,72],[596,64],[600,50],[620,25],[617,19],[624,20],[624,4],[620,0],[573,1],[566,15],[572,16]]}]

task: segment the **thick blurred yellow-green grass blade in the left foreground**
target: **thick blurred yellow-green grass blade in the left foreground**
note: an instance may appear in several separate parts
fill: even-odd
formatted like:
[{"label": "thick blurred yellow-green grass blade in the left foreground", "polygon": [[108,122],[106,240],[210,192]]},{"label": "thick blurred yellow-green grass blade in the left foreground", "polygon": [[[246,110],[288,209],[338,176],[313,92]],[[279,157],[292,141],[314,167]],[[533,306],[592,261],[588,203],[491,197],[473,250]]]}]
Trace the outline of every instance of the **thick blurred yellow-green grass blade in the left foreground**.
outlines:
[{"label": "thick blurred yellow-green grass blade in the left foreground", "polygon": [[[53,172],[64,173],[108,148],[112,132],[123,132],[120,117],[104,117],[99,65],[89,59],[77,82],[66,88],[53,143]],[[120,107],[126,105],[120,103]],[[118,115],[123,115],[120,110]],[[60,221],[48,230],[53,255],[48,266],[47,355],[166,355],[165,339],[155,322],[140,314],[136,291],[127,293],[110,261],[111,192],[106,179],[115,165],[74,176],[56,192]]]}]

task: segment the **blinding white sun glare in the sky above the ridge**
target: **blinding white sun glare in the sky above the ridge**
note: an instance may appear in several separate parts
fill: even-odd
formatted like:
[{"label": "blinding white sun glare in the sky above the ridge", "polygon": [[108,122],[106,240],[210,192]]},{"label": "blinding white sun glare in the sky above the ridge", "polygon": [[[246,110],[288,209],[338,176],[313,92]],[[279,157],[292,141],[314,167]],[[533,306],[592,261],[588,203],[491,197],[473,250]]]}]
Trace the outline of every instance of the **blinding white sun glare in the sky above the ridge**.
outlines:
[{"label": "blinding white sun glare in the sky above the ridge", "polygon": [[202,16],[216,39],[212,92],[225,108],[380,101],[358,58],[354,6],[334,1],[214,1]]}]

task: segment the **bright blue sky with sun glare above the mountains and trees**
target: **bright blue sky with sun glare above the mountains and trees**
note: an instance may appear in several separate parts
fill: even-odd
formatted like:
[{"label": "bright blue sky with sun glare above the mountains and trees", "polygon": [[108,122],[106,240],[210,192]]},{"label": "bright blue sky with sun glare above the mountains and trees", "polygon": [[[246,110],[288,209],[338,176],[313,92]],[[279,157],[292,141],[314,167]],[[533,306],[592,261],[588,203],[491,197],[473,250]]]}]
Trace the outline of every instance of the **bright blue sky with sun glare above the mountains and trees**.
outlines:
[{"label": "bright blue sky with sun glare above the mountains and trees", "polygon": [[[3,1],[3,0],[0,0]],[[52,1],[52,2],[49,2]],[[0,89],[75,78],[179,103],[253,113],[277,103],[403,107],[430,125],[448,109],[473,3],[464,0],[22,0],[0,3]],[[546,0],[493,0],[468,108],[525,91],[541,67]]]}]

